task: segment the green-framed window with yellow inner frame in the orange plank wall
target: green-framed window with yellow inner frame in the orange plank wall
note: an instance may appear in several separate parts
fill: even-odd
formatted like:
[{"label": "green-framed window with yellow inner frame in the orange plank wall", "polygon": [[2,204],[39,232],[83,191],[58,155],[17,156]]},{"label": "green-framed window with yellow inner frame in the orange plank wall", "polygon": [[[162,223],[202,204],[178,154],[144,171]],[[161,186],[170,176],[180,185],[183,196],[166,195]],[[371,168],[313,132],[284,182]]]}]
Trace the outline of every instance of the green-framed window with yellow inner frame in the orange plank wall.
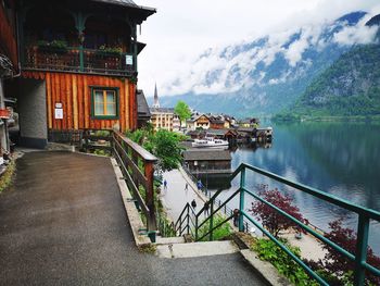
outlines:
[{"label": "green-framed window with yellow inner frame in the orange plank wall", "polygon": [[118,89],[91,87],[91,115],[93,119],[118,119]]}]

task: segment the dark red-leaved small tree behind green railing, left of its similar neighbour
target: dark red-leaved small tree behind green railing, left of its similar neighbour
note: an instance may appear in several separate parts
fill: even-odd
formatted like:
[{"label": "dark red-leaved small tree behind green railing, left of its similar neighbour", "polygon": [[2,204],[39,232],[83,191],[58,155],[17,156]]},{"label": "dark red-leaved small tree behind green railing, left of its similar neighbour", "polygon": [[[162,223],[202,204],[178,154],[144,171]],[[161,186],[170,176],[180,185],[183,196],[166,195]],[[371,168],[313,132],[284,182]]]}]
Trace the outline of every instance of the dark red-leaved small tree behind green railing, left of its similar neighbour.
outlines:
[{"label": "dark red-leaved small tree behind green railing, left of its similar neighbour", "polygon": [[[268,190],[264,188],[258,192],[258,195],[266,201],[270,202],[271,204],[284,211],[286,213],[290,214],[294,219],[301,222],[304,221],[299,208],[292,204],[293,199],[288,195],[281,194],[277,188],[274,190]],[[296,228],[299,232],[302,231],[302,228],[300,228],[297,224],[293,223],[288,217],[278,213],[264,202],[252,202],[252,209],[250,210],[250,212],[252,212],[262,222],[263,226],[266,229],[268,229],[269,233],[273,234],[275,237],[278,237],[281,231],[286,231],[289,228]]]}]

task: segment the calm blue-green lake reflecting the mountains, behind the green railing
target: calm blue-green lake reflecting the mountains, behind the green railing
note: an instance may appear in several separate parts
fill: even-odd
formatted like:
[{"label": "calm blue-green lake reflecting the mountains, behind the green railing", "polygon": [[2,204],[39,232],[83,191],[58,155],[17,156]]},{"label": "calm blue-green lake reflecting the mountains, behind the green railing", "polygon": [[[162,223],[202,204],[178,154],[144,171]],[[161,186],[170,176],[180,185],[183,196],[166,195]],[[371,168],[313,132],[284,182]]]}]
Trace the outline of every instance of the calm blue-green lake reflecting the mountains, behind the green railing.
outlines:
[{"label": "calm blue-green lake reflecting the mountains, behind the green railing", "polygon": [[[268,124],[262,124],[269,126]],[[296,123],[273,124],[274,140],[267,148],[239,147],[231,151],[232,169],[248,163],[380,211],[380,125],[370,123]],[[225,189],[228,196],[239,185],[202,178],[208,189]],[[250,174],[246,185],[277,187],[294,198],[304,217],[328,231],[328,223],[344,216],[345,225],[356,229],[357,215],[322,202],[311,195]],[[246,201],[246,208],[252,200]],[[238,206],[237,200],[232,202]],[[236,206],[230,206],[235,208]],[[380,254],[380,224],[371,223],[369,244]]]}]

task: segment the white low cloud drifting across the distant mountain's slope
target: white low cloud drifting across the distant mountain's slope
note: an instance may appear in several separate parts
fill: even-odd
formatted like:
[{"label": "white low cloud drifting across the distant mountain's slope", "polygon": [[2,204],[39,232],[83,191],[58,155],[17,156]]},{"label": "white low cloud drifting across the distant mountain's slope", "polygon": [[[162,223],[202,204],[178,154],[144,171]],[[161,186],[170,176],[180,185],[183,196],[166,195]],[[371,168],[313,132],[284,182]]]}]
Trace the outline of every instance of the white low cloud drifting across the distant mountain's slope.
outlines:
[{"label": "white low cloud drifting across the distant mountain's slope", "polygon": [[[342,23],[343,27],[334,23],[309,24],[299,29],[271,33],[256,40],[255,45],[252,45],[253,41],[241,41],[227,48],[207,49],[192,61],[179,61],[178,69],[169,73],[161,85],[161,92],[228,94],[254,85],[277,85],[293,80],[307,73],[307,69],[313,65],[309,59],[304,59],[305,51],[311,48],[320,50],[331,43],[372,42],[377,28],[365,26],[369,18],[370,15],[365,16],[355,26],[349,23]],[[330,40],[326,40],[326,34],[334,29],[338,32]],[[284,69],[278,78],[268,79],[267,74],[258,67],[270,66],[278,57],[288,62],[289,69]]]}]

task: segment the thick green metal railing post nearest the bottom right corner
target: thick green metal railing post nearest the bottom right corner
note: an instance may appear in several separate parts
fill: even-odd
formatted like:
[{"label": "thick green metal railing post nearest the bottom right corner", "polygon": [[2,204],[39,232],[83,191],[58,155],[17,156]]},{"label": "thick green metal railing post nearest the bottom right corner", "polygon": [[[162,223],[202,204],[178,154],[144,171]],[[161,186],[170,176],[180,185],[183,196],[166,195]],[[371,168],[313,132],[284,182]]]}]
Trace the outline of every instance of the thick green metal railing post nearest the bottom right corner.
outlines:
[{"label": "thick green metal railing post nearest the bottom right corner", "polygon": [[365,282],[365,268],[363,263],[367,260],[369,219],[359,214],[357,225],[357,243],[355,256],[355,277],[354,285],[362,286]]}]

